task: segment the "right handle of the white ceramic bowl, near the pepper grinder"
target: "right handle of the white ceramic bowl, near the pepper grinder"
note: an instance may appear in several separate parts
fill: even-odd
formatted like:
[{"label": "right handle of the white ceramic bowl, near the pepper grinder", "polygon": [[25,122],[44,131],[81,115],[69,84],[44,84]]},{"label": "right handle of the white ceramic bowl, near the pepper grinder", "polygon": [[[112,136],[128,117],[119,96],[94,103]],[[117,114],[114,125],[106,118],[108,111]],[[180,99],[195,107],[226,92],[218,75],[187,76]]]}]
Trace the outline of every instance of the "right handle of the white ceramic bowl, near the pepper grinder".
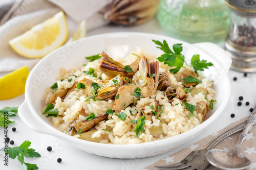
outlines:
[{"label": "right handle of the white ceramic bowl, near the pepper grinder", "polygon": [[194,45],[198,46],[206,53],[215,56],[215,58],[220,63],[222,69],[225,69],[227,71],[229,70],[232,63],[231,55],[226,52],[222,47],[212,42],[199,42],[195,43]]}]

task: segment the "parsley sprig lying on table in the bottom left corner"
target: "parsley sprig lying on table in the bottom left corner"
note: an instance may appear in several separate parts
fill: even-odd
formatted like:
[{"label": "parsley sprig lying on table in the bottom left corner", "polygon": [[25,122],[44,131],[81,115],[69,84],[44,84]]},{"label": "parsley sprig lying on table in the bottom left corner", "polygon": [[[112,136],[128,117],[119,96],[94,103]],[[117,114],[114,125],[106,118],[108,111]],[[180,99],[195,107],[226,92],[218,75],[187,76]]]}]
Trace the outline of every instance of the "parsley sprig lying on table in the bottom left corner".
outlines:
[{"label": "parsley sprig lying on table in the bottom left corner", "polygon": [[31,142],[28,140],[25,140],[22,144],[19,145],[19,147],[8,147],[8,150],[5,151],[5,148],[2,148],[0,151],[5,151],[9,158],[15,159],[17,157],[18,161],[22,163],[24,169],[26,170],[34,170],[38,169],[36,164],[30,164],[24,162],[24,157],[26,158],[39,158],[41,155],[38,152],[35,152],[34,149],[29,148],[31,145]]}]

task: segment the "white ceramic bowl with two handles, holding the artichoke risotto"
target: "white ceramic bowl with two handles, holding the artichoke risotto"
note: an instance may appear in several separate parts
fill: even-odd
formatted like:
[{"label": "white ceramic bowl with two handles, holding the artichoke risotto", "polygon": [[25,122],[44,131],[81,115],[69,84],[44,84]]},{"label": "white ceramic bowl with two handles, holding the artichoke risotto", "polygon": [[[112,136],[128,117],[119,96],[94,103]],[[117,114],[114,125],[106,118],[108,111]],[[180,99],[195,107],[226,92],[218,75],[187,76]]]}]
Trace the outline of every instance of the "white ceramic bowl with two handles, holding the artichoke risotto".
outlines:
[{"label": "white ceramic bowl with two handles, holding the artichoke risotto", "polygon": [[[206,69],[203,74],[214,80],[214,88],[217,91],[217,103],[214,106],[214,110],[207,114],[207,120],[204,123],[188,132],[167,139],[140,144],[115,145],[85,141],[64,134],[56,130],[48,118],[41,114],[45,107],[43,98],[45,89],[56,82],[60,68],[71,69],[73,67],[81,67],[86,61],[84,57],[98,54],[101,51],[106,51],[113,58],[124,56],[127,52],[136,50],[137,46],[147,47],[150,54],[162,53],[156,47],[156,44],[152,42],[152,39],[161,42],[165,39],[169,46],[172,46],[174,43],[182,43],[182,54],[188,63],[190,63],[190,58],[194,54],[200,54],[201,59],[214,63],[214,66]],[[88,153],[110,158],[144,158],[155,156],[174,150],[197,137],[220,116],[230,94],[230,84],[226,74],[230,63],[230,57],[221,47],[208,42],[189,44],[170,37],[131,32],[91,36],[58,48],[36,64],[27,79],[25,101],[19,107],[18,113],[20,118],[34,131],[56,136],[68,141],[77,149]]]}]

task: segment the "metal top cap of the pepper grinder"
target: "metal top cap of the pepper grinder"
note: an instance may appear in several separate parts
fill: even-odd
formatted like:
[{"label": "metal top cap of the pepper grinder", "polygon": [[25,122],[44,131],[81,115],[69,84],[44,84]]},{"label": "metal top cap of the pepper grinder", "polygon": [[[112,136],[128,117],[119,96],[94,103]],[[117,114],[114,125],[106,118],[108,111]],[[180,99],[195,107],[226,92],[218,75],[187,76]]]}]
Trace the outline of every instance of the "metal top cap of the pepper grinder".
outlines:
[{"label": "metal top cap of the pepper grinder", "polygon": [[225,0],[225,3],[241,15],[256,16],[256,0]]}]

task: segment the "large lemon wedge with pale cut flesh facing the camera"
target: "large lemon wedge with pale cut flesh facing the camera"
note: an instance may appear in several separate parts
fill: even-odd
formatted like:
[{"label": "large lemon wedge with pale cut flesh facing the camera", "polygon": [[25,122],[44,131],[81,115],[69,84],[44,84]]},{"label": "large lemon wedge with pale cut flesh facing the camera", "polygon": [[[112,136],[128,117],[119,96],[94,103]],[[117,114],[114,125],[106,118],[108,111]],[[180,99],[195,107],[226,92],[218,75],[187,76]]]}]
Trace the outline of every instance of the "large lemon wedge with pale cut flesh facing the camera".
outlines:
[{"label": "large lemon wedge with pale cut flesh facing the camera", "polygon": [[42,58],[65,43],[68,26],[62,11],[10,40],[15,52],[26,58]]}]

